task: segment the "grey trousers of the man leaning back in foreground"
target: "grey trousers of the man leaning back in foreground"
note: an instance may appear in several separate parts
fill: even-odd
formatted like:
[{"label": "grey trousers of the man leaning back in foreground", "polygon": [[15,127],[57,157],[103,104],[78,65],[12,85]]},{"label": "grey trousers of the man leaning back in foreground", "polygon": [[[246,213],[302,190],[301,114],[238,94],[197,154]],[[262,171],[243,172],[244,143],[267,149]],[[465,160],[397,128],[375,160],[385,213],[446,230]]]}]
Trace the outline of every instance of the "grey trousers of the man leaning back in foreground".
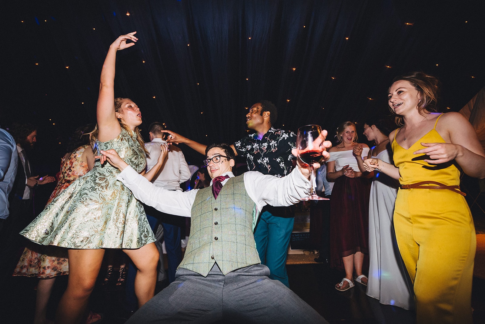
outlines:
[{"label": "grey trousers of the man leaning back in foreground", "polygon": [[179,268],[175,281],[126,323],[328,323],[269,273],[262,264],[227,275],[214,264],[207,277]]}]

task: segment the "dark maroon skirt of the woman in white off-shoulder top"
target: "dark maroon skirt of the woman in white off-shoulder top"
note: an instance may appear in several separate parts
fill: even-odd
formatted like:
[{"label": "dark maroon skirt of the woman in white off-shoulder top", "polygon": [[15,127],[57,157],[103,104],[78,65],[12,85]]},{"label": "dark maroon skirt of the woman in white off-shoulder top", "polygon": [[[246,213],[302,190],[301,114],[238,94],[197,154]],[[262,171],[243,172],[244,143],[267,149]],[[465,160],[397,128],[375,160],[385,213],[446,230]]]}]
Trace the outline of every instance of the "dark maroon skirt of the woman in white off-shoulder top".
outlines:
[{"label": "dark maroon skirt of the woman in white off-shoulder top", "polygon": [[343,267],[342,257],[369,254],[371,180],[337,178],[330,198],[330,266]]}]

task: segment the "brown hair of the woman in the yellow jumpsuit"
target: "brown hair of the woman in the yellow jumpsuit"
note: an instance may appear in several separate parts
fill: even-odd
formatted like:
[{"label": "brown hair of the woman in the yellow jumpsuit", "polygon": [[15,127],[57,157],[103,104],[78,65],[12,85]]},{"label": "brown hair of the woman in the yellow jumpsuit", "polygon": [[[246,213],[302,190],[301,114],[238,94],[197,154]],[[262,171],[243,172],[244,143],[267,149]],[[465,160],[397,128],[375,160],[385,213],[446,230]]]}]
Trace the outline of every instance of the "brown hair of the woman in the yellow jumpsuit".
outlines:
[{"label": "brown hair of the woman in the yellow jumpsuit", "polygon": [[[440,82],[436,77],[425,74],[424,72],[411,72],[394,78],[392,83],[401,80],[411,83],[411,85],[420,93],[421,100],[418,103],[418,112],[420,115],[424,116],[425,113],[433,113],[437,111],[436,104],[438,101]],[[392,107],[389,106],[389,110],[391,113],[395,114]],[[400,115],[395,116],[395,122],[399,126],[404,126],[403,117]]]}]

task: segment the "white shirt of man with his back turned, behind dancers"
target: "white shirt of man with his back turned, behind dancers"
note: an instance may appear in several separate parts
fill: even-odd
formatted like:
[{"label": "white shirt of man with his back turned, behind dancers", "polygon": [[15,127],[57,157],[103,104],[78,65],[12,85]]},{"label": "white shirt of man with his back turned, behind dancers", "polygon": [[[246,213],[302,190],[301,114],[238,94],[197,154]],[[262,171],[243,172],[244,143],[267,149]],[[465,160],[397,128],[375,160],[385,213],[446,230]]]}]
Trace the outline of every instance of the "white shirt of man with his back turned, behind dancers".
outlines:
[{"label": "white shirt of man with his back turned, behind dancers", "polygon": [[[160,145],[167,144],[161,138],[154,138],[151,142],[145,143],[148,155],[146,157],[146,172],[157,164],[160,156]],[[153,183],[157,187],[167,190],[182,190],[180,183],[190,179],[191,173],[185,161],[182,150],[175,145],[168,147],[168,156],[159,174],[153,178]]]}]

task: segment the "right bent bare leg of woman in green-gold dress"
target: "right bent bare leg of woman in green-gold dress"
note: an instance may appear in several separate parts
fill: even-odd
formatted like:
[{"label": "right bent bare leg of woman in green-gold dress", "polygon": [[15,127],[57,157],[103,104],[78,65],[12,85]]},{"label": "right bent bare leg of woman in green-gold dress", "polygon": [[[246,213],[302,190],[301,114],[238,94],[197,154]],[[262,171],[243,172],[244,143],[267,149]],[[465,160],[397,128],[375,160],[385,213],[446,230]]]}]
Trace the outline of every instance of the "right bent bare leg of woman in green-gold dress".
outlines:
[{"label": "right bent bare leg of woman in green-gold dress", "polygon": [[135,277],[135,295],[138,307],[142,307],[155,294],[159,253],[155,243],[146,244],[139,249],[123,250],[138,269]]}]

